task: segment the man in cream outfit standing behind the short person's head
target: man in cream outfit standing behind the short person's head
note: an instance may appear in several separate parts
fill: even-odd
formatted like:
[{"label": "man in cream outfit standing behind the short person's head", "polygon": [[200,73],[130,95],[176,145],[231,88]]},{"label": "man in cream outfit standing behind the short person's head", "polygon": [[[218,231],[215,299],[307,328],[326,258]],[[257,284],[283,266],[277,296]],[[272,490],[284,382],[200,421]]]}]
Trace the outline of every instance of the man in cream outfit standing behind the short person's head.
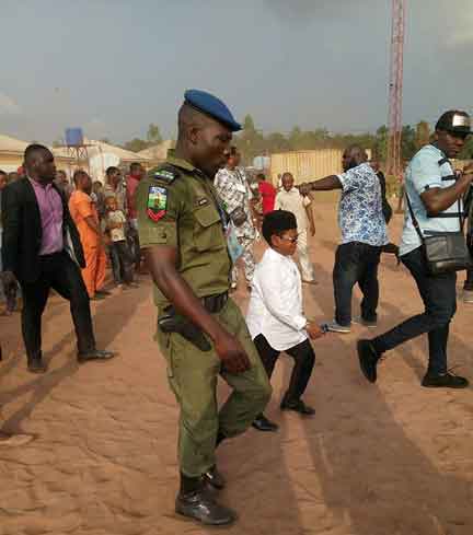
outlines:
[{"label": "man in cream outfit standing behind the short person's head", "polygon": [[284,173],[281,182],[282,189],[276,195],[275,210],[287,210],[296,216],[299,232],[297,253],[302,272],[302,282],[316,284],[308,246],[308,226],[311,235],[315,235],[312,202],[309,196],[302,196],[299,189],[295,187],[295,179],[290,173]]}]

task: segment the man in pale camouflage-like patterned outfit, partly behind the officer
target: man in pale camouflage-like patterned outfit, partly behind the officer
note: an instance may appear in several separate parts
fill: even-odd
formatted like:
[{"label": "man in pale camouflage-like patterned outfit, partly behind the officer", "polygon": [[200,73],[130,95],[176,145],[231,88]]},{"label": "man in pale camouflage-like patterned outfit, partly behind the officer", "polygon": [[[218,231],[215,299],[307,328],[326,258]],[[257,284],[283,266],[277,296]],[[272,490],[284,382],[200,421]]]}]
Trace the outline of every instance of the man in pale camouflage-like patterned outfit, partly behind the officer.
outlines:
[{"label": "man in pale camouflage-like patterned outfit, partly behind the officer", "polygon": [[[223,201],[226,211],[234,225],[235,234],[242,246],[242,260],[246,283],[253,279],[255,259],[253,255],[253,243],[256,239],[256,229],[253,224],[253,210],[250,200],[253,199],[247,178],[240,164],[240,152],[236,147],[230,147],[226,151],[227,165],[219,170],[215,177],[215,187],[220,199]],[[238,267],[233,266],[231,288],[235,289],[238,282]]]}]

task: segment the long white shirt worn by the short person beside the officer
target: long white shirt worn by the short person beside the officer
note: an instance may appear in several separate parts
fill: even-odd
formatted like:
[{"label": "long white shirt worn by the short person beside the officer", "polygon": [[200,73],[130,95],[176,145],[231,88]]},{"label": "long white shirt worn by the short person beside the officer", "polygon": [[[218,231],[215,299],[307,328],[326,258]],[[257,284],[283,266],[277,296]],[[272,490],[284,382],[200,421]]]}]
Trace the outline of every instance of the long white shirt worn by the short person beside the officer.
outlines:
[{"label": "long white shirt worn by the short person beside the officer", "polygon": [[266,249],[252,287],[246,314],[252,339],[263,335],[274,349],[285,351],[308,338],[301,277],[292,258]]}]

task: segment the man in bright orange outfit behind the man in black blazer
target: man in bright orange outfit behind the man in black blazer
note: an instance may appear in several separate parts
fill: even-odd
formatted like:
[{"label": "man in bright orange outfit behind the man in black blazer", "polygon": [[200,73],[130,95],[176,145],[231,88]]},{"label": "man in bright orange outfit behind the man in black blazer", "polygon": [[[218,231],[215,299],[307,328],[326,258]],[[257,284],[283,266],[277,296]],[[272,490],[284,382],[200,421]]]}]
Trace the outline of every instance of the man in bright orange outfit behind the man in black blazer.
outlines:
[{"label": "man in bright orange outfit behind the man in black blazer", "polygon": [[90,197],[92,178],[85,171],[76,171],[73,175],[76,190],[69,199],[69,211],[78,228],[85,256],[82,269],[89,298],[97,301],[109,295],[102,290],[105,281],[106,256],[96,208]]}]

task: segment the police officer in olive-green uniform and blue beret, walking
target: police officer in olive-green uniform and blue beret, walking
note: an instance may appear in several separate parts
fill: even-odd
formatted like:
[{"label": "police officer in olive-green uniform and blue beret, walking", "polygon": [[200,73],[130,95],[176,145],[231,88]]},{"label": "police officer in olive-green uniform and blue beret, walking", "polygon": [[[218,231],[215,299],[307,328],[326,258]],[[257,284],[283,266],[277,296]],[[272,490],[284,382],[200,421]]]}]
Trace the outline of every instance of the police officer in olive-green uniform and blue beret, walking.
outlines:
[{"label": "police officer in olive-green uniform and blue beret, walking", "polygon": [[[139,239],[155,284],[157,340],[181,406],[176,512],[214,525],[235,519],[208,492],[208,485],[224,486],[216,446],[244,432],[270,397],[244,318],[228,296],[228,221],[211,182],[240,129],[220,100],[187,91],[175,151],[137,190]],[[233,388],[220,411],[219,374]]]}]

